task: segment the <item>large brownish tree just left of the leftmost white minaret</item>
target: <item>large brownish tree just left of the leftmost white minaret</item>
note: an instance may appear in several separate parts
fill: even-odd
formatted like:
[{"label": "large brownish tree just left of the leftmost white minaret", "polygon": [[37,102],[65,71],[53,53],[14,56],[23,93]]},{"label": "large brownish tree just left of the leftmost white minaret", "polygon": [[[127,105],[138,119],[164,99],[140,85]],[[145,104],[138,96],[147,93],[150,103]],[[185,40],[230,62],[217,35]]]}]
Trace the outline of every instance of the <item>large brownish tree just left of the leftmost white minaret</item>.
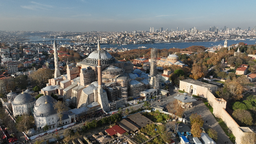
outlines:
[{"label": "large brownish tree just left of the leftmost white minaret", "polygon": [[45,87],[48,79],[53,78],[54,70],[48,68],[41,68],[31,74],[31,80],[39,87]]}]

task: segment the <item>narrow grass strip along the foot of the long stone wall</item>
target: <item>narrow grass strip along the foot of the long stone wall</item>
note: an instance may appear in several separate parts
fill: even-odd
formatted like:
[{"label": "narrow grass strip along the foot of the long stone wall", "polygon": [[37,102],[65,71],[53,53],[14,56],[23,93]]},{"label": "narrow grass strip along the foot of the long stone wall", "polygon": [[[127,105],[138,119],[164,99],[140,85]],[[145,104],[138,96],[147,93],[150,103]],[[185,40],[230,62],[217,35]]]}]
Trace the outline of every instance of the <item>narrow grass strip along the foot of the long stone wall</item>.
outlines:
[{"label": "narrow grass strip along the foot of the long stone wall", "polygon": [[[213,115],[213,108],[211,105],[209,105],[209,103],[203,99],[204,104],[206,105],[207,108],[209,108],[210,112]],[[213,115],[214,116],[214,115]],[[235,143],[236,141],[236,137],[233,135],[233,133],[230,131],[228,134],[228,126],[222,121],[221,118],[215,117],[216,121],[218,121],[218,123],[220,124],[220,127],[222,128],[222,130],[227,134],[227,136],[229,136],[229,139],[231,140],[232,143]]]}]

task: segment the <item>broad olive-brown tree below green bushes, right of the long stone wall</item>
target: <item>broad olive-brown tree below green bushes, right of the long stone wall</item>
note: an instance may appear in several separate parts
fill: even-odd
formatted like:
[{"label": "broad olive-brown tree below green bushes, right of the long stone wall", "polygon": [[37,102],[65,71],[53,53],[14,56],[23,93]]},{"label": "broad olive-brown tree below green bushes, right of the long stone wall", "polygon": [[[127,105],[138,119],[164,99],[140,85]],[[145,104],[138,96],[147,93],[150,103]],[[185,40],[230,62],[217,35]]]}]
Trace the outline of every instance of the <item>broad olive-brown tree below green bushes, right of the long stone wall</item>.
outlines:
[{"label": "broad olive-brown tree below green bushes, right of the long stone wall", "polygon": [[252,125],[252,115],[248,110],[236,109],[232,114],[240,123]]}]

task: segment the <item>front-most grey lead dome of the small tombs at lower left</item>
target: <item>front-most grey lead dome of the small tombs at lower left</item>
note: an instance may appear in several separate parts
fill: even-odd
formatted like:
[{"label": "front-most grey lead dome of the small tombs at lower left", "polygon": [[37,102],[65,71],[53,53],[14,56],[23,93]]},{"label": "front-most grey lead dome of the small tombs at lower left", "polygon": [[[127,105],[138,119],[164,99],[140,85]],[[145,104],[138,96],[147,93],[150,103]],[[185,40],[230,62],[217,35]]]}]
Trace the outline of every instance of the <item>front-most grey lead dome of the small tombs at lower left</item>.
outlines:
[{"label": "front-most grey lead dome of the small tombs at lower left", "polygon": [[43,103],[41,104],[36,112],[35,115],[36,116],[43,116],[43,117],[47,117],[47,116],[51,116],[56,114],[56,110],[53,107],[53,103]]}]

